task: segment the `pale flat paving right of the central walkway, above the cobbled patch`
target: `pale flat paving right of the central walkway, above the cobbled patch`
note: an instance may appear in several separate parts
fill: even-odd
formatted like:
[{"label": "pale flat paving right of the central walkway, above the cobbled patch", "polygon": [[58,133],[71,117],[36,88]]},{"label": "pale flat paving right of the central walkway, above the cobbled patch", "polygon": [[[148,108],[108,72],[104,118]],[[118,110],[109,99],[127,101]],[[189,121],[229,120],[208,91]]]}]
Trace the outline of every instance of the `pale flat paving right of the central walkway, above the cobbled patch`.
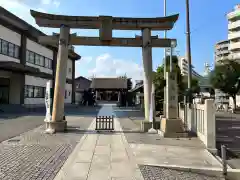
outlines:
[{"label": "pale flat paving right of the central walkway, above the cobbled patch", "polygon": [[138,164],[221,168],[218,160],[206,149],[145,144],[130,146]]}]

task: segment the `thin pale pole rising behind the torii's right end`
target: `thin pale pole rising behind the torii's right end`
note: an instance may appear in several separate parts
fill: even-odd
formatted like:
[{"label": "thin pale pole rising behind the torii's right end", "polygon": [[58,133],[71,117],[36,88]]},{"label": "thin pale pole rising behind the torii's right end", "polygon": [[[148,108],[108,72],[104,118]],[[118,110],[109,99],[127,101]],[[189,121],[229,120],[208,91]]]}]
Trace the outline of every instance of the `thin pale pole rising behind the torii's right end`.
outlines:
[{"label": "thin pale pole rising behind the torii's right end", "polygon": [[[164,16],[167,16],[167,0],[163,0],[163,12]],[[167,38],[167,31],[164,31],[164,38]],[[166,80],[166,71],[167,71],[167,49],[164,48],[164,79]],[[164,103],[163,103],[163,115],[166,117],[166,86],[164,87]]]}]

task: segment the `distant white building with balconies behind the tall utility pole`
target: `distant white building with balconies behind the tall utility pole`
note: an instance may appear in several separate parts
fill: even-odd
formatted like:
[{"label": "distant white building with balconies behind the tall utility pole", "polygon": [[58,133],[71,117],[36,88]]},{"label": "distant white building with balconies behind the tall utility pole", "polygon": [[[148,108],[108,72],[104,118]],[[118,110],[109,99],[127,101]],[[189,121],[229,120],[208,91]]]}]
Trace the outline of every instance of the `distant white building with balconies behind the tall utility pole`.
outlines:
[{"label": "distant white building with balconies behind the tall utility pole", "polygon": [[[185,57],[179,57],[178,58],[178,66],[179,66],[179,68],[181,70],[182,75],[183,76],[188,76],[189,63],[188,63],[188,60]],[[192,77],[195,77],[197,79],[202,77],[200,74],[198,74],[194,70],[194,66],[193,65],[192,65]]]}]

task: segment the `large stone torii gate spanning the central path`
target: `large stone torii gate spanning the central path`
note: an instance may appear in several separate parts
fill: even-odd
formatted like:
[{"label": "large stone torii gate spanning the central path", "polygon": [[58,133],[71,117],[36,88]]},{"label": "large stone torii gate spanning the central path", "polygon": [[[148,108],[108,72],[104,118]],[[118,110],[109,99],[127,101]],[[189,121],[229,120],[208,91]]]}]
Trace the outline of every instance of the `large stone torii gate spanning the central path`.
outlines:
[{"label": "large stone torii gate spanning the central path", "polygon": [[[151,36],[151,30],[171,30],[178,20],[178,14],[157,18],[124,18],[112,16],[65,16],[33,10],[30,13],[35,18],[38,26],[60,28],[60,34],[39,37],[39,42],[42,44],[59,46],[52,121],[49,122],[49,131],[63,131],[67,125],[67,122],[63,120],[63,116],[69,45],[142,47],[145,119],[149,119],[152,89],[152,47],[168,48],[171,47],[172,41],[176,41],[176,39],[162,39],[158,38],[158,36]],[[81,37],[70,34],[70,28],[99,29],[99,37]],[[141,30],[142,36],[115,38],[112,37],[113,30]]]}]

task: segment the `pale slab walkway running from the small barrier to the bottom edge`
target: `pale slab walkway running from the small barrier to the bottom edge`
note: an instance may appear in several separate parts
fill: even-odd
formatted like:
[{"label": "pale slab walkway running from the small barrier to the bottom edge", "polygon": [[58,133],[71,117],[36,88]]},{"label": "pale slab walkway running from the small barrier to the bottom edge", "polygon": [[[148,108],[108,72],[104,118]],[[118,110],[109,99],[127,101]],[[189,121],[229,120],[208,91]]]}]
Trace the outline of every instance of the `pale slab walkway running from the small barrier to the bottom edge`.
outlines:
[{"label": "pale slab walkway running from the small barrier to the bottom edge", "polygon": [[115,133],[95,133],[95,121],[55,180],[143,180],[132,159],[120,123]]}]

